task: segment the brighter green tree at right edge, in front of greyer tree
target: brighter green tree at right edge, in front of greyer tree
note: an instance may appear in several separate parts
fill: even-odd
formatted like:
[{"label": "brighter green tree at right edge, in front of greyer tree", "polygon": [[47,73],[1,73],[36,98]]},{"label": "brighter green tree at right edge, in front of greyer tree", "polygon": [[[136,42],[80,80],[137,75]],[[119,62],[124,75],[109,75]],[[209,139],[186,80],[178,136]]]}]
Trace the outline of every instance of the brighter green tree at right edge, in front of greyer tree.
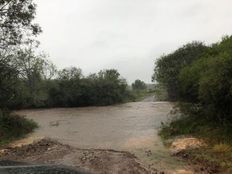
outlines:
[{"label": "brighter green tree at right edge, in front of greyer tree", "polygon": [[185,101],[198,103],[218,123],[232,122],[232,37],[213,44],[207,55],[185,67],[180,85]]}]

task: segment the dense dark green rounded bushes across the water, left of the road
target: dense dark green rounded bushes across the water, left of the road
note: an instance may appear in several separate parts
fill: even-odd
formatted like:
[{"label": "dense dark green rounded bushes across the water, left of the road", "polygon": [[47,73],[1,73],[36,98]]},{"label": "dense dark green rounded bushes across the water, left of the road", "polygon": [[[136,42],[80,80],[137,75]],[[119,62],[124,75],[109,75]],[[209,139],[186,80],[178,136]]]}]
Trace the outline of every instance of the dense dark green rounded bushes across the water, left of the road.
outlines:
[{"label": "dense dark green rounded bushes across the water, left of the road", "polygon": [[84,77],[78,69],[64,69],[49,91],[51,106],[110,105],[126,100],[127,84],[114,70]]}]

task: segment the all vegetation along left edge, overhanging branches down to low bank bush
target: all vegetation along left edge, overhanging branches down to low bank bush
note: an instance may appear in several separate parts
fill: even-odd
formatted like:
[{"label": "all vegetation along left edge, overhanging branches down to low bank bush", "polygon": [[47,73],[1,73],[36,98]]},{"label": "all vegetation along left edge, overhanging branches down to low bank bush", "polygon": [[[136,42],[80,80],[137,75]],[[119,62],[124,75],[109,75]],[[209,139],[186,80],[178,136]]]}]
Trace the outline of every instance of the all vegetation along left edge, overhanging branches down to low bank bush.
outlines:
[{"label": "all vegetation along left edge, overhanging branches down to low bank bush", "polygon": [[0,145],[24,136],[37,126],[6,109],[20,90],[20,75],[13,57],[20,46],[33,42],[41,32],[40,27],[32,23],[35,10],[36,5],[31,0],[0,1]]}]

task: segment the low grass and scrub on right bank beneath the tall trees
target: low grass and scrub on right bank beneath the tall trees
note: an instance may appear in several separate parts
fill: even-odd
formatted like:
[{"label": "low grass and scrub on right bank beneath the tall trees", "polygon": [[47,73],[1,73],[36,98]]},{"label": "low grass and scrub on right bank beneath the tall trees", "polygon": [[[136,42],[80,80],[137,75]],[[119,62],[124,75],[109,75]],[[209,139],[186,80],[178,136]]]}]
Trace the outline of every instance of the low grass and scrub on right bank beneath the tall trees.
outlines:
[{"label": "low grass and scrub on right bank beneath the tall trees", "polygon": [[[232,125],[221,125],[209,121],[202,108],[181,104],[172,112],[173,119],[164,123],[160,136],[164,141],[177,136],[194,136],[205,140],[207,147],[186,150],[192,163],[204,164],[205,167],[227,170],[232,173]],[[182,114],[180,114],[180,112]],[[178,114],[179,113],[179,114]],[[168,142],[168,141],[166,141]]]}]

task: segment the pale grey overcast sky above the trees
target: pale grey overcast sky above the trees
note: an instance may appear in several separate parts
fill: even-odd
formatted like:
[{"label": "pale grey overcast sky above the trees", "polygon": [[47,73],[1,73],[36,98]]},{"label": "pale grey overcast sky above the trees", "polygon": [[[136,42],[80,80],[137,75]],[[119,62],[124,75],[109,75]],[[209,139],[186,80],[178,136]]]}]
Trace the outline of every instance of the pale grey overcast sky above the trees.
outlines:
[{"label": "pale grey overcast sky above the trees", "polygon": [[35,0],[41,49],[85,75],[115,68],[151,82],[154,61],[182,44],[232,34],[231,0]]}]

